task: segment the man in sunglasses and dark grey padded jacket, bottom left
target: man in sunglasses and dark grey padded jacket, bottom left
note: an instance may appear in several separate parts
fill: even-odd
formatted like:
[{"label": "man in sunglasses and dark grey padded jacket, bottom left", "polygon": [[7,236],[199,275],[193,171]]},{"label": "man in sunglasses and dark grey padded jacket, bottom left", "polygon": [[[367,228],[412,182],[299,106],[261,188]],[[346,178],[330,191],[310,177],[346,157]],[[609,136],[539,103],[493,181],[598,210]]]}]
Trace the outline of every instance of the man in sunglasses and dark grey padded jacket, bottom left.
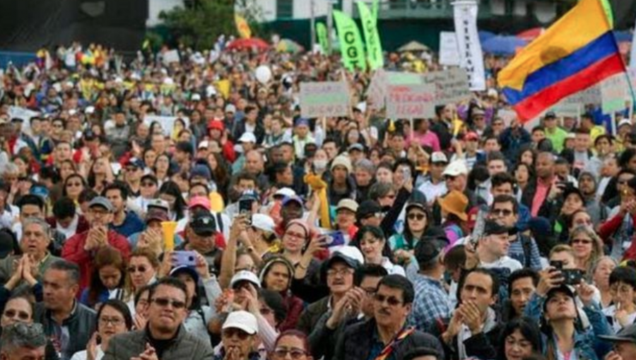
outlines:
[{"label": "man in sunglasses and dark grey padded jacket, bottom left", "polygon": [[188,315],[187,289],[173,277],[155,282],[148,296],[148,325],[110,340],[104,360],[213,359],[212,348],[183,327]]}]

